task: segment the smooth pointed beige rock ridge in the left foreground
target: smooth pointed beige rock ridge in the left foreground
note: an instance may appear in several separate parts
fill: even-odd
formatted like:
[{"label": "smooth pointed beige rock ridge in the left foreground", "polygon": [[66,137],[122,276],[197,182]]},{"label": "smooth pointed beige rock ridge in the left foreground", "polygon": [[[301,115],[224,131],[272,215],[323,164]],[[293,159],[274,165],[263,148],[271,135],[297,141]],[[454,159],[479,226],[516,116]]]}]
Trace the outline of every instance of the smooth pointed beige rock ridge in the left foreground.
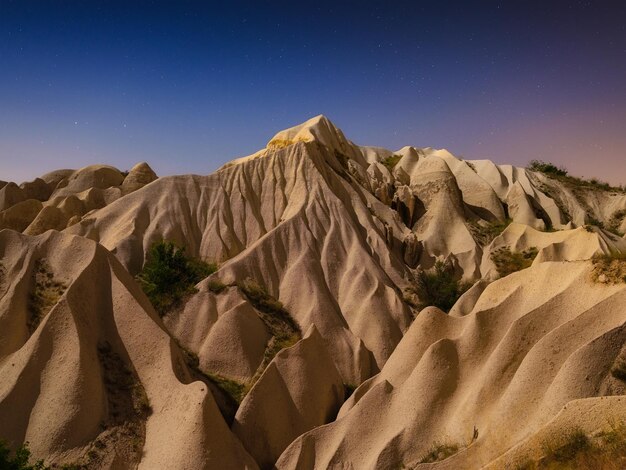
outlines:
[{"label": "smooth pointed beige rock ridge in the left foreground", "polygon": [[[120,469],[256,468],[206,385],[191,382],[147,298],[110,253],[58,232],[28,237],[4,230],[0,254],[4,438],[29,441],[33,455],[49,462],[91,459],[100,462],[96,467]],[[45,279],[64,289],[29,329],[34,315],[29,292],[44,288],[33,285],[41,282],[34,270],[42,262],[52,276]],[[123,377],[134,383],[130,390],[120,382],[124,370]],[[132,407],[119,415],[129,411],[120,395],[130,399],[125,394],[131,392],[145,394],[152,410],[147,418],[135,417]],[[116,431],[130,422],[130,437]],[[96,440],[106,450],[94,447]],[[92,458],[90,451],[104,455]]]}]

